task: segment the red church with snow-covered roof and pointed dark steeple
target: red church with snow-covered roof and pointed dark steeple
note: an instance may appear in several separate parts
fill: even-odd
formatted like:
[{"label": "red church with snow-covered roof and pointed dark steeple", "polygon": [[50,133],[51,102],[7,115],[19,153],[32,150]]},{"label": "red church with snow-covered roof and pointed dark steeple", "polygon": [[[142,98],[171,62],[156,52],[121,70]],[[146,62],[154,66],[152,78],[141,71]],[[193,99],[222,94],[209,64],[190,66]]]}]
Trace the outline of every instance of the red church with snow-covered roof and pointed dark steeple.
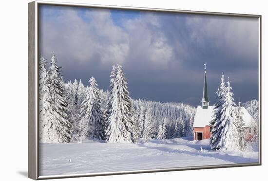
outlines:
[{"label": "red church with snow-covered roof and pointed dark steeple", "polygon": [[[209,139],[211,137],[212,127],[210,121],[213,115],[214,106],[210,106],[210,100],[207,89],[207,72],[206,64],[204,72],[204,85],[203,85],[203,98],[202,106],[197,106],[195,117],[193,120],[193,140]],[[250,124],[254,121],[247,109],[241,107],[243,112],[243,120],[245,122],[245,128],[250,127]]]}]

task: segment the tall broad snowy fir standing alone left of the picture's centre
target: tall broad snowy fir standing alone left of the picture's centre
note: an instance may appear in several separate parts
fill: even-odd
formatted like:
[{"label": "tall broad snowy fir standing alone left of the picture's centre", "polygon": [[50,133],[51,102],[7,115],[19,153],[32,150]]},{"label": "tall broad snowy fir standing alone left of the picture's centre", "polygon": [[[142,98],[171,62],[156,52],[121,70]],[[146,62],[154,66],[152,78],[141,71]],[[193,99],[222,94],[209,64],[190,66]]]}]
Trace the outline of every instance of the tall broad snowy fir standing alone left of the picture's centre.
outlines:
[{"label": "tall broad snowy fir standing alone left of the picture's centre", "polygon": [[[113,73],[113,72],[112,72]],[[112,74],[113,76],[113,74]],[[113,79],[113,80],[112,80]],[[114,81],[114,82],[113,82]],[[106,131],[109,143],[135,143],[133,130],[132,104],[125,75],[120,65],[116,68],[116,77],[111,78],[112,90],[109,105],[108,128]]]}]

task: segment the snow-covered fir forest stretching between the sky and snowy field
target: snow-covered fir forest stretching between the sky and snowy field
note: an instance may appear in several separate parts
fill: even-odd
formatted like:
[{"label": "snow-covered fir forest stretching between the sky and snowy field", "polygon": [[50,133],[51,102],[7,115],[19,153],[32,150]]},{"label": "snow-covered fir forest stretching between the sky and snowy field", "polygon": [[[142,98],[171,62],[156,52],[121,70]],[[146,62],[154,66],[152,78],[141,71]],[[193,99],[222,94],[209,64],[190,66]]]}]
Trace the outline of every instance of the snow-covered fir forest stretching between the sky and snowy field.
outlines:
[{"label": "snow-covered fir forest stretching between the sky and snowy field", "polygon": [[[89,85],[86,86],[77,79],[65,83],[55,54],[51,56],[49,67],[46,59],[40,56],[39,141],[41,143],[81,143],[84,139],[97,139],[108,143],[146,143],[152,138],[172,139],[192,136],[196,108],[183,103],[132,99],[122,66],[116,65],[111,69],[110,90],[101,90],[98,89],[94,77],[89,77]],[[220,121],[222,109],[227,108],[229,111],[230,106],[235,105],[230,90],[230,82],[228,81],[226,86],[222,77],[222,84],[217,91],[215,119],[211,120],[211,125],[214,125],[211,136],[212,149],[218,149],[222,144],[223,138],[218,136],[224,131],[218,126],[222,123]],[[252,100],[241,106],[249,111],[257,124],[258,101]],[[239,114],[236,115],[238,115],[236,120],[239,120]],[[240,131],[237,127],[234,130]],[[238,142],[239,139],[237,146],[242,145]]]}]

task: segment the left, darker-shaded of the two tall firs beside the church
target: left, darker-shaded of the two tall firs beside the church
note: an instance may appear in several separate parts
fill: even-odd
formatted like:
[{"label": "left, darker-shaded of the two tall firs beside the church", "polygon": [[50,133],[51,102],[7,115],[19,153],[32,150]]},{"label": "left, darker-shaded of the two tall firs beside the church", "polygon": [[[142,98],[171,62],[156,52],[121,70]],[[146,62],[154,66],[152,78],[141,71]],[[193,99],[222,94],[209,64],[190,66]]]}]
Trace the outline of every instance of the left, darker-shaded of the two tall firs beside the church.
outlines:
[{"label": "left, darker-shaded of the two tall firs beside the church", "polygon": [[218,91],[216,92],[218,101],[215,108],[213,109],[213,116],[210,122],[210,125],[213,127],[210,138],[210,144],[212,150],[219,149],[218,141],[220,139],[221,136],[220,134],[222,130],[222,127],[220,126],[222,121],[221,115],[222,115],[223,104],[225,102],[226,92],[227,90],[224,82],[224,74],[222,73],[221,84],[219,85]]}]

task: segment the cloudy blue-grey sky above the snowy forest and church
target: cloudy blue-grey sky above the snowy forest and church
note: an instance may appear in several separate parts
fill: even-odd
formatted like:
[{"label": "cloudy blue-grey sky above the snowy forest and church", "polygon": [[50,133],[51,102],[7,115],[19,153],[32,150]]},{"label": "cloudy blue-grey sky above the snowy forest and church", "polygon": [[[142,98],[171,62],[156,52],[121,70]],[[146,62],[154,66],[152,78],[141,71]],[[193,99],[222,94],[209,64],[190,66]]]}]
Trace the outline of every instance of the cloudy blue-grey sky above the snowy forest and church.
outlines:
[{"label": "cloudy blue-grey sky above the snowy forest and church", "polygon": [[[258,19],[41,5],[39,53],[63,79],[109,89],[120,64],[132,98],[200,105],[204,63],[211,104],[221,73],[235,101],[258,98]],[[49,65],[49,64],[48,64]]]}]

